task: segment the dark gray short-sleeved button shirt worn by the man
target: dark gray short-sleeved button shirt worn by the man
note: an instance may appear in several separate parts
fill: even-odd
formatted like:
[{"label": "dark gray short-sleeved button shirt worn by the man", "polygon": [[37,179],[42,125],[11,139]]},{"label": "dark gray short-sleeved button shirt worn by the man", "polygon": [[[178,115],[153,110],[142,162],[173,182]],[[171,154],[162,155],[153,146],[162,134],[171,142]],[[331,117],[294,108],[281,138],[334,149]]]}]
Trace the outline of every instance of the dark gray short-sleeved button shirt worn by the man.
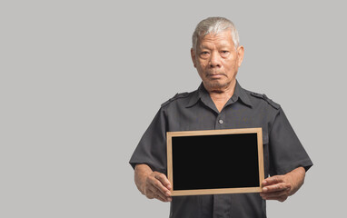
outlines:
[{"label": "dark gray short-sleeved button shirt worn by the man", "polygon": [[[238,82],[221,112],[203,84],[162,104],[130,164],[146,163],[166,174],[166,132],[253,127],[263,128],[265,177],[289,173],[300,166],[307,171],[312,166],[281,106],[265,94],[243,89]],[[170,217],[266,217],[265,207],[259,193],[177,196],[173,197]]]}]

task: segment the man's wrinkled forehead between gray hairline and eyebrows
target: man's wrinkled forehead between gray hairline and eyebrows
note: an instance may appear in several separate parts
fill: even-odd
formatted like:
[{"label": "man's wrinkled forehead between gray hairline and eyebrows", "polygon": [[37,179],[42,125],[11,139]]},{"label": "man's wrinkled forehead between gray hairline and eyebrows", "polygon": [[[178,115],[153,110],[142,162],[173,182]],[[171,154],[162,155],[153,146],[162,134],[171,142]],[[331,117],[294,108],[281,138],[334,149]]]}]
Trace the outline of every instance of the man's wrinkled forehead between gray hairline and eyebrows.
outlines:
[{"label": "man's wrinkled forehead between gray hairline and eyebrows", "polygon": [[230,30],[224,30],[218,34],[202,35],[197,41],[199,47],[211,46],[211,45],[225,45],[233,46],[233,37]]}]

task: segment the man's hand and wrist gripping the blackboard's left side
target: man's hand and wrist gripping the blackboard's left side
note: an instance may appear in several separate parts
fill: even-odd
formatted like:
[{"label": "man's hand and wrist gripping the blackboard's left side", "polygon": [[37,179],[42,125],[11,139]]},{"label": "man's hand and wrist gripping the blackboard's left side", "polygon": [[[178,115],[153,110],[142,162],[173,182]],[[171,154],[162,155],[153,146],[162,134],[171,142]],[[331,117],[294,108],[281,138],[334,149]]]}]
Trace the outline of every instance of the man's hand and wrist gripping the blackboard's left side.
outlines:
[{"label": "man's hand and wrist gripping the blackboard's left side", "polygon": [[162,202],[171,202],[171,183],[166,175],[153,172],[146,164],[138,164],[135,167],[135,183],[137,188],[147,198],[156,198]]}]

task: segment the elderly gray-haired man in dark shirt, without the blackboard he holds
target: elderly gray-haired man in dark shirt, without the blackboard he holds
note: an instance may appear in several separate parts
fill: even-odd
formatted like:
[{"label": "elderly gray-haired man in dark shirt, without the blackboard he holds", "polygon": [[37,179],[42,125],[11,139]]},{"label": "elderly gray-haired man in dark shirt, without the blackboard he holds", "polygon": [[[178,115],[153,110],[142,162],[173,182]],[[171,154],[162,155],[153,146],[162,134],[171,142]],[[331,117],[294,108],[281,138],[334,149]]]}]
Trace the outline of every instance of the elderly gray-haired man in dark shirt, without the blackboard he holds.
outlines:
[{"label": "elderly gray-haired man in dark shirt, without the blackboard he holds", "polygon": [[[136,186],[147,198],[171,202],[170,217],[266,217],[265,200],[283,202],[298,191],[312,161],[282,107],[265,94],[243,89],[236,80],[243,46],[231,21],[201,21],[193,33],[191,54],[203,82],[196,91],[176,94],[162,104],[130,160]],[[263,128],[267,178],[262,193],[170,196],[166,132],[252,127]]]}]

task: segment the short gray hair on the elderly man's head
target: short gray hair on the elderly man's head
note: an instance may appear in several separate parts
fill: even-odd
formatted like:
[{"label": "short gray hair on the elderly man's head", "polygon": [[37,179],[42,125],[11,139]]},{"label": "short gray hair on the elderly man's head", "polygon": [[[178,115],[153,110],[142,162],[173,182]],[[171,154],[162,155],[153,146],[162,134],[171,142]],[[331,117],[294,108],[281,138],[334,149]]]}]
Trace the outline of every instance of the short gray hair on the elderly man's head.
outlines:
[{"label": "short gray hair on the elderly man's head", "polygon": [[195,27],[195,31],[192,36],[192,43],[193,43],[193,50],[196,51],[196,44],[198,41],[198,38],[201,36],[205,36],[208,34],[219,34],[223,32],[224,30],[230,29],[232,32],[232,38],[233,38],[233,45],[235,46],[235,49],[239,46],[240,39],[239,34],[237,33],[237,30],[235,28],[235,25],[233,25],[233,22],[230,20],[224,18],[224,17],[208,17],[204,20],[202,20],[198,25]]}]

